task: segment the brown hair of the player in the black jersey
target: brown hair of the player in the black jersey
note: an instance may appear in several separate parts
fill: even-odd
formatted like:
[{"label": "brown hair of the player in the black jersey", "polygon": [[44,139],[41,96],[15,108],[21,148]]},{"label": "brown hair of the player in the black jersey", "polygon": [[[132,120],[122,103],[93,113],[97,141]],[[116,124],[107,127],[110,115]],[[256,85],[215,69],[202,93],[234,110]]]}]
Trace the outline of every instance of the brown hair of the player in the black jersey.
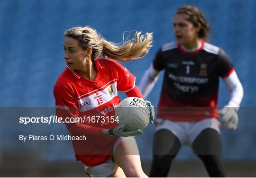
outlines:
[{"label": "brown hair of the player in the black jersey", "polygon": [[185,14],[188,16],[187,21],[191,22],[194,27],[201,24],[201,29],[198,32],[198,37],[209,41],[210,23],[205,19],[200,9],[194,6],[183,6],[177,9],[176,14]]}]

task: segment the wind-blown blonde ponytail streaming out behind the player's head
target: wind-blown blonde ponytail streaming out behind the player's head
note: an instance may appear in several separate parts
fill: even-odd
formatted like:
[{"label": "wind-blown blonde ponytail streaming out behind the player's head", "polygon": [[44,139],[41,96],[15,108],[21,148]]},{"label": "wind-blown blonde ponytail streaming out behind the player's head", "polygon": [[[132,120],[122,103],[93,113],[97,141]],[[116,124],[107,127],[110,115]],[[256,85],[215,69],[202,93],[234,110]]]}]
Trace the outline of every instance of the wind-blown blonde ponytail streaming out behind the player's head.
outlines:
[{"label": "wind-blown blonde ponytail streaming out behind the player's head", "polygon": [[[129,36],[128,36],[129,38]],[[133,59],[144,57],[149,48],[152,46],[153,34],[146,33],[141,35],[141,32],[135,33],[133,39],[124,41],[122,45],[108,42],[106,39],[101,38],[103,44],[102,55],[122,62],[128,62]]]}]

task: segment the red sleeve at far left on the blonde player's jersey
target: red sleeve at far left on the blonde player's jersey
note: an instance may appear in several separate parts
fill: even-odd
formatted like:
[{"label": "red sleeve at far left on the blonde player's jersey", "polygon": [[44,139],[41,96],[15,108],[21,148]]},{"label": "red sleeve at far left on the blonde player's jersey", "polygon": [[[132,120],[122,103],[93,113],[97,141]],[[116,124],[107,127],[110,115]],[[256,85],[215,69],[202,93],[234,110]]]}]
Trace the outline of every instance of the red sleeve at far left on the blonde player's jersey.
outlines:
[{"label": "red sleeve at far left on the blonde player's jersey", "polygon": [[[70,117],[79,117],[79,110],[71,87],[66,85],[55,85],[55,112],[58,118],[68,123]],[[67,118],[67,119],[66,119]]]}]

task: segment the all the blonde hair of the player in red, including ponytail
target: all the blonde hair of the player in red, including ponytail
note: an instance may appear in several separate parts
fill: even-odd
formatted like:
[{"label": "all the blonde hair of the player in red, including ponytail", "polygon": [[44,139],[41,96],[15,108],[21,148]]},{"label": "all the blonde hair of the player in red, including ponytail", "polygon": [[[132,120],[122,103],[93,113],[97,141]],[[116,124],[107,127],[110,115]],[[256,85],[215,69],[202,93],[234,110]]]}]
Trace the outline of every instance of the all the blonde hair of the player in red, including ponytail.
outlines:
[{"label": "all the blonde hair of the player in red, including ponytail", "polygon": [[73,27],[65,31],[65,37],[72,37],[78,40],[82,49],[92,48],[91,59],[97,59],[101,54],[103,57],[109,57],[118,61],[128,62],[133,59],[144,57],[152,46],[153,34],[135,32],[132,39],[130,34],[122,45],[107,41],[101,37],[97,31],[91,27]]}]

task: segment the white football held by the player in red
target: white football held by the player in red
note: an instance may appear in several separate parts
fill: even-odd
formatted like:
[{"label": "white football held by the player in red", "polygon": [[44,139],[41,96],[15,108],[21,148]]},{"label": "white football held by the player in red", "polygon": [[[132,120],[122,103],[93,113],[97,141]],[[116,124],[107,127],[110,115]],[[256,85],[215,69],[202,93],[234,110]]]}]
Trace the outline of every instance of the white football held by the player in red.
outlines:
[{"label": "white football held by the player in red", "polygon": [[144,130],[149,123],[150,110],[143,99],[128,97],[119,103],[115,116],[119,118],[118,125],[126,125],[124,130]]}]

